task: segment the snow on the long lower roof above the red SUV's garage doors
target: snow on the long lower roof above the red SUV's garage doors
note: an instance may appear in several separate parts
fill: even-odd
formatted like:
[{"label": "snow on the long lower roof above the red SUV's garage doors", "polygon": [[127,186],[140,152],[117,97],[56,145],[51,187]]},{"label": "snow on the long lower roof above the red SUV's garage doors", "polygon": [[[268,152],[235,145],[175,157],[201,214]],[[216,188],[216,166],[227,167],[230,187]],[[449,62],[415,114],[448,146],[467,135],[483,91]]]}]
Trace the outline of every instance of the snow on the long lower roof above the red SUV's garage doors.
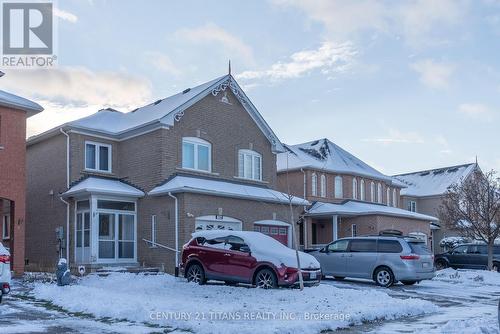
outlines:
[{"label": "snow on the long lower roof above the red SUV's garage doors", "polygon": [[[175,176],[165,184],[151,190],[148,195],[159,196],[169,192],[191,192],[222,197],[244,198],[263,202],[288,203],[288,197],[285,194],[266,187],[183,175]],[[309,205],[309,202],[294,196],[292,198],[292,204]]]}]

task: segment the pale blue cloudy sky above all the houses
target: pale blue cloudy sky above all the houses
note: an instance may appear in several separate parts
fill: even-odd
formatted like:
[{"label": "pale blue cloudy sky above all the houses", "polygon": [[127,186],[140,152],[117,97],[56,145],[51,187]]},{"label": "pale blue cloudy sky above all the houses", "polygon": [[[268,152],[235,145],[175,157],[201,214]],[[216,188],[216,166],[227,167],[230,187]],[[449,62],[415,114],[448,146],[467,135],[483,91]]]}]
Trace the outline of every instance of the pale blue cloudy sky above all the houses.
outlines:
[{"label": "pale blue cloudy sky above all the houses", "polygon": [[59,1],[59,65],[4,70],[29,135],[233,75],[282,142],[383,173],[500,170],[500,1]]}]

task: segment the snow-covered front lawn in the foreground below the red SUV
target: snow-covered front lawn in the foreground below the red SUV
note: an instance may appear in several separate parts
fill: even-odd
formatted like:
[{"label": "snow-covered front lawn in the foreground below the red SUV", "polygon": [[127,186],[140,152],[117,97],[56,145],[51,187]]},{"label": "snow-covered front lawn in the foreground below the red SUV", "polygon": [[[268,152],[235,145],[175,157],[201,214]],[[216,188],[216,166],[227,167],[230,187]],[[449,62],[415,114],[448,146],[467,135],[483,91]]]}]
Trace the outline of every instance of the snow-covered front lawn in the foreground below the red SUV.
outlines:
[{"label": "snow-covered front lawn in the foreground below the red SUV", "polygon": [[255,333],[256,328],[264,333],[314,333],[437,310],[428,301],[396,299],[371,288],[321,284],[304,291],[262,290],[129,273],[90,275],[65,287],[35,283],[32,293],[72,312],[195,333]]}]

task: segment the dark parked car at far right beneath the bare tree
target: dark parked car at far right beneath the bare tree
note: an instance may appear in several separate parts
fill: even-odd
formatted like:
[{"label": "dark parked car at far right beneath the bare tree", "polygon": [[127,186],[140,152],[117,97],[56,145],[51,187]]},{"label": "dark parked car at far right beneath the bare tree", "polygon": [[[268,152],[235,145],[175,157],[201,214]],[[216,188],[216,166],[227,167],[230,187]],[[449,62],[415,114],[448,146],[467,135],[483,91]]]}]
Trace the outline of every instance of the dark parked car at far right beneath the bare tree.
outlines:
[{"label": "dark parked car at far right beneath the bare tree", "polygon": [[[488,247],[482,244],[463,244],[436,255],[438,270],[444,268],[488,269]],[[493,270],[500,272],[500,246],[493,247]]]}]

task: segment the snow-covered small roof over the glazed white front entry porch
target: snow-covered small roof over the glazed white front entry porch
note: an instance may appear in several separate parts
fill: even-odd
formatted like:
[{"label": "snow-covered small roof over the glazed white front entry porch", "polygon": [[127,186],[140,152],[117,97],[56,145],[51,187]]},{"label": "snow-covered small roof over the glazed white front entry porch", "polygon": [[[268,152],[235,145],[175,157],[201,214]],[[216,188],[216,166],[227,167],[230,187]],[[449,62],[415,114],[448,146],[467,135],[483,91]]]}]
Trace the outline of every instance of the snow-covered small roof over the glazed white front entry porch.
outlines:
[{"label": "snow-covered small roof over the glazed white front entry porch", "polygon": [[101,177],[88,177],[71,188],[69,188],[63,197],[75,196],[80,194],[102,194],[102,195],[119,195],[129,197],[143,197],[144,192],[126,184],[120,180],[105,179]]}]

